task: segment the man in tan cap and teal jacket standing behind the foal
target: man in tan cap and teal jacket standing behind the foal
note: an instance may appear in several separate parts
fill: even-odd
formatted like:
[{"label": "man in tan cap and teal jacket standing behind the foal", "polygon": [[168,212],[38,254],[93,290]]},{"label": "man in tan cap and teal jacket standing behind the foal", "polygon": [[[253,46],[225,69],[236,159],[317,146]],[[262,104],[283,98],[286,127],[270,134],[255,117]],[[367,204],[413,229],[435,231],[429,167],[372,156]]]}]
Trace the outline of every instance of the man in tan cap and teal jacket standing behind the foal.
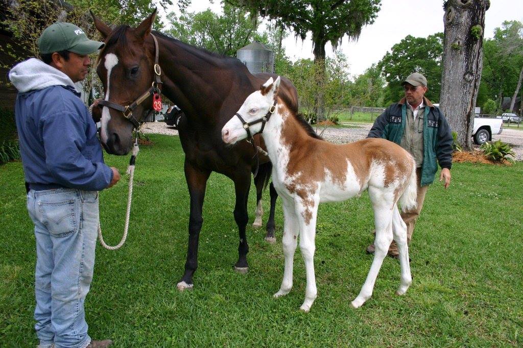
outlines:
[{"label": "man in tan cap and teal jacket standing behind the foal", "polygon": [[[444,187],[450,185],[450,167],[452,166],[452,134],[445,116],[427,98],[427,79],[419,73],[413,73],[402,83],[405,97],[389,106],[374,121],[368,138],[385,138],[414,156],[418,179],[417,207],[401,213],[407,225],[407,242],[410,243],[416,219],[423,207],[428,185],[441,167],[439,181],[444,180]],[[374,245],[367,248],[374,252]],[[398,257],[398,249],[393,241],[389,247],[389,256]]]}]

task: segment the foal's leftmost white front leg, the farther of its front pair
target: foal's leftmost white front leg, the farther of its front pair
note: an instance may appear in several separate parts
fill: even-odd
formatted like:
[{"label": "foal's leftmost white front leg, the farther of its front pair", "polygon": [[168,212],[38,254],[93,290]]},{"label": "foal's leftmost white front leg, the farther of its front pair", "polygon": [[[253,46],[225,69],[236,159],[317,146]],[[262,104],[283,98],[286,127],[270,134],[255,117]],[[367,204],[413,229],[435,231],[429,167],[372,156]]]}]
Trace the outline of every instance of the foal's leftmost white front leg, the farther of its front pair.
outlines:
[{"label": "foal's leftmost white front leg, the farther of its front pair", "polygon": [[292,288],[292,269],[294,264],[294,251],[297,246],[299,233],[298,220],[294,209],[294,202],[282,198],[283,201],[283,254],[285,254],[285,268],[283,269],[283,280],[279,291],[274,297],[287,295]]}]

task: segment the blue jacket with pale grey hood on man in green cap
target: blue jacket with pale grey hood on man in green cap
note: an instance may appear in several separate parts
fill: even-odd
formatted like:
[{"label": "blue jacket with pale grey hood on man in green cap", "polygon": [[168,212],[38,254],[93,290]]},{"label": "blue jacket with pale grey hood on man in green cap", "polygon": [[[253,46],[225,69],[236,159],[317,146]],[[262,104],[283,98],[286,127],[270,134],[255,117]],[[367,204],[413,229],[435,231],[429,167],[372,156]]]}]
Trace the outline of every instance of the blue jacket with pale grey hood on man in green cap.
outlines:
[{"label": "blue jacket with pale grey hood on man in green cap", "polygon": [[96,137],[96,124],[69,76],[31,58],[9,79],[18,89],[16,126],[25,180],[35,187],[100,191],[112,170]]}]

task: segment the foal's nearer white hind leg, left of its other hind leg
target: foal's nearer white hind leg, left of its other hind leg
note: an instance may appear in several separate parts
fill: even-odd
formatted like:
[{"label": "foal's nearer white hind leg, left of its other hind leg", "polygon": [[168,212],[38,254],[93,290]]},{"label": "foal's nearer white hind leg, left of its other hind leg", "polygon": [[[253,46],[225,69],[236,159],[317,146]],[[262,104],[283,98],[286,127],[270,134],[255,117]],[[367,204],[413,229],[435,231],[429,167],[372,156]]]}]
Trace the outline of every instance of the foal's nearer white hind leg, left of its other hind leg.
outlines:
[{"label": "foal's nearer white hind leg, left of its other hind leg", "polygon": [[361,287],[359,295],[351,302],[355,308],[363,305],[365,301],[372,296],[376,277],[392,242],[393,193],[383,192],[383,189],[369,187],[369,196],[374,210],[374,226],[376,226],[374,247],[376,250],[374,251],[374,259],[372,260],[367,279]]}]

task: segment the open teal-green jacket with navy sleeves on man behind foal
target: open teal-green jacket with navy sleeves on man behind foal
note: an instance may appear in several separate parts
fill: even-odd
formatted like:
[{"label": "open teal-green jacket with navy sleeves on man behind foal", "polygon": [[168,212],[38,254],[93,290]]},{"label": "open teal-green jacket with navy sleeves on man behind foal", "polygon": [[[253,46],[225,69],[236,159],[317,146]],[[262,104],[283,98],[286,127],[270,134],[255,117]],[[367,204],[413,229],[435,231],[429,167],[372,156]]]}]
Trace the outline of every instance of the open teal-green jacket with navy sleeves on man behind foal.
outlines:
[{"label": "open teal-green jacket with navy sleeves on man behind foal", "polygon": [[[423,127],[424,154],[422,164],[421,185],[429,185],[434,182],[434,176],[441,168],[450,169],[452,166],[452,133],[445,116],[427,98],[423,97],[425,103],[425,121]],[[379,115],[374,121],[368,138],[384,138],[400,145],[401,137],[405,129],[406,120],[405,98]],[[436,162],[437,160],[437,162]]]}]

